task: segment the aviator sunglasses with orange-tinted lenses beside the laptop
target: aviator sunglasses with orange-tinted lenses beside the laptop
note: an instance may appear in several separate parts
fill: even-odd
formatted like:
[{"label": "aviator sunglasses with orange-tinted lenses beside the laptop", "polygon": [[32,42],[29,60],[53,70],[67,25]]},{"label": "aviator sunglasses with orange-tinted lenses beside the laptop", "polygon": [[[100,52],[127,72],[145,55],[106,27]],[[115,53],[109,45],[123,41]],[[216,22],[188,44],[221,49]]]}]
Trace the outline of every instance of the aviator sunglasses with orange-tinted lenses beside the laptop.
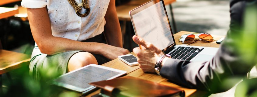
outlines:
[{"label": "aviator sunglasses with orange-tinted lenses beside the laptop", "polygon": [[213,41],[213,37],[210,34],[207,34],[207,33],[196,33],[196,34],[198,34],[197,36],[199,39],[195,39],[196,35],[194,34],[185,34],[179,38],[179,41],[182,42],[182,44],[188,44],[192,41],[198,41],[198,40],[205,41],[205,42]]}]

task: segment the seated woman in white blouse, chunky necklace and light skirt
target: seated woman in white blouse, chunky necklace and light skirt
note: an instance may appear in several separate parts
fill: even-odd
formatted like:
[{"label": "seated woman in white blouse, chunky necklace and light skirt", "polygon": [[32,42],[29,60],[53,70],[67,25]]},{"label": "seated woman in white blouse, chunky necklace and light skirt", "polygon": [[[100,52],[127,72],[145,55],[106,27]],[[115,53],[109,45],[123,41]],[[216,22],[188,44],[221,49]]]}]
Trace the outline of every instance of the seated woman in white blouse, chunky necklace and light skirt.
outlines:
[{"label": "seated woman in white blouse, chunky necklace and light skirt", "polygon": [[[122,48],[115,0],[22,0],[36,42],[30,73],[57,66],[64,74],[129,53]],[[106,36],[103,44],[102,32]]]}]

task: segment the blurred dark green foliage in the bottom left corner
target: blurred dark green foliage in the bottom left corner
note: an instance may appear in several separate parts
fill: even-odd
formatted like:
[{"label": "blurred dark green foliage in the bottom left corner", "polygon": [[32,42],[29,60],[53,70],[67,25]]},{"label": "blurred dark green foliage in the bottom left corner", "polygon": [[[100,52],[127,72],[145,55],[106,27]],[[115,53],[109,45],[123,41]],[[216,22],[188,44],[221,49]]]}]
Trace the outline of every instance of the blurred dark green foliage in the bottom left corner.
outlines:
[{"label": "blurred dark green foliage in the bottom left corner", "polygon": [[78,93],[67,91],[47,83],[52,78],[59,76],[55,67],[41,70],[40,80],[35,80],[29,74],[28,66],[23,66],[11,72],[12,81],[6,80],[6,86],[1,97],[77,97]]}]

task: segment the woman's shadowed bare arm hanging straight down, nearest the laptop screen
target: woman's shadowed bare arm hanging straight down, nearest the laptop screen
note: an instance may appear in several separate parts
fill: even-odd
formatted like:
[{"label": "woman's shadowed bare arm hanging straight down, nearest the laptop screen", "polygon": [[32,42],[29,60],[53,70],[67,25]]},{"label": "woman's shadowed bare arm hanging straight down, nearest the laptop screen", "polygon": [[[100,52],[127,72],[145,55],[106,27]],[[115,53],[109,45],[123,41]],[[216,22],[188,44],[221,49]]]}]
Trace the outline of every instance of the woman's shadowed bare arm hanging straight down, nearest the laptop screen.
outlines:
[{"label": "woman's shadowed bare arm hanging straight down, nearest the laptop screen", "polygon": [[115,47],[122,47],[122,37],[120,22],[118,20],[115,0],[110,0],[106,15],[106,24],[104,27],[104,32],[106,36],[107,43]]}]

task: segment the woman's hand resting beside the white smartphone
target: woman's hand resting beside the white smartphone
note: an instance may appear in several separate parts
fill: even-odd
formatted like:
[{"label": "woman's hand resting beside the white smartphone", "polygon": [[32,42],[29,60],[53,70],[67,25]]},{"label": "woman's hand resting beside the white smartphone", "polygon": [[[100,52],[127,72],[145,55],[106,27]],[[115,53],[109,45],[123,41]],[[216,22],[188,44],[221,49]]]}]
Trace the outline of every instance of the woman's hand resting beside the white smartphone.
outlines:
[{"label": "woman's hand resting beside the white smartphone", "polygon": [[102,55],[110,60],[114,60],[118,58],[120,55],[125,55],[130,53],[129,50],[121,48],[121,47],[114,47],[111,45],[105,44],[102,47]]}]

